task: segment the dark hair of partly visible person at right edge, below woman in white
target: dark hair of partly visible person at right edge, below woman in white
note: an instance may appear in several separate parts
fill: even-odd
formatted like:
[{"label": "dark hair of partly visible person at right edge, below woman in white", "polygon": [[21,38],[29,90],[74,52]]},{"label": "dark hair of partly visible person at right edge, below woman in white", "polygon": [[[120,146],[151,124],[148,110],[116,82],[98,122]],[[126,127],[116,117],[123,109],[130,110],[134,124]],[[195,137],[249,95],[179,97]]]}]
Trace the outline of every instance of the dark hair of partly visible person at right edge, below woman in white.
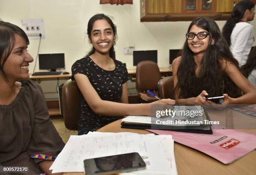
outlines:
[{"label": "dark hair of partly visible person at right edge, below woman in white", "polygon": [[241,67],[241,71],[243,75],[246,78],[248,78],[251,71],[255,69],[256,69],[256,46],[254,46],[253,49],[251,50],[246,64]]}]

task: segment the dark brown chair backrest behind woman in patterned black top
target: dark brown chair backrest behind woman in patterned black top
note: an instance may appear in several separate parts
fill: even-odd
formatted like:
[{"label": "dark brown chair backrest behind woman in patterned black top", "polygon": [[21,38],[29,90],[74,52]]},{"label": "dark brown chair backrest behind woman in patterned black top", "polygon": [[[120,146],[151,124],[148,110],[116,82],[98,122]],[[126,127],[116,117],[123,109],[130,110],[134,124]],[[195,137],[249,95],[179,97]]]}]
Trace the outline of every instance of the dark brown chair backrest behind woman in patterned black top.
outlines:
[{"label": "dark brown chair backrest behind woman in patterned black top", "polygon": [[67,80],[62,88],[64,124],[69,130],[77,130],[80,118],[80,92],[77,83]]}]

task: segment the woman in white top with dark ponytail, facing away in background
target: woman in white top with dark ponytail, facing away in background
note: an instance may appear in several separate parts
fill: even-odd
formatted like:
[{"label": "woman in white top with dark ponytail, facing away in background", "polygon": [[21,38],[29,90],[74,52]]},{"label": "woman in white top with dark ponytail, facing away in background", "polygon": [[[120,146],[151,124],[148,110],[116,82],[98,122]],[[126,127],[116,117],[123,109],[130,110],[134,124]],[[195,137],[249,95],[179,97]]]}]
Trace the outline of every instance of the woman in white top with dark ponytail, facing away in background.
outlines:
[{"label": "woman in white top with dark ponytail, facing away in background", "polygon": [[246,63],[254,42],[253,26],[247,23],[254,18],[254,6],[255,4],[251,0],[238,2],[222,30],[223,37],[228,42],[239,67]]}]

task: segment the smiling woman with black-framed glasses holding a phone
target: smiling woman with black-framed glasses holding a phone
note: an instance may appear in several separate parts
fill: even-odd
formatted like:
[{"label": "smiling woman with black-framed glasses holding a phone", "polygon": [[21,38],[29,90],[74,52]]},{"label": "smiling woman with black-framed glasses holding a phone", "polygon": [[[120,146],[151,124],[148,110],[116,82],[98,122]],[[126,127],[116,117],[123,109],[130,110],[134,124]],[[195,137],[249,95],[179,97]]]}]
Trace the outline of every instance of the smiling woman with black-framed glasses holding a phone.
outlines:
[{"label": "smiling woman with black-framed glasses holding a phone", "polygon": [[239,71],[214,20],[193,20],[186,37],[182,56],[172,62],[178,104],[214,105],[205,97],[222,95],[223,106],[256,103],[256,90]]}]

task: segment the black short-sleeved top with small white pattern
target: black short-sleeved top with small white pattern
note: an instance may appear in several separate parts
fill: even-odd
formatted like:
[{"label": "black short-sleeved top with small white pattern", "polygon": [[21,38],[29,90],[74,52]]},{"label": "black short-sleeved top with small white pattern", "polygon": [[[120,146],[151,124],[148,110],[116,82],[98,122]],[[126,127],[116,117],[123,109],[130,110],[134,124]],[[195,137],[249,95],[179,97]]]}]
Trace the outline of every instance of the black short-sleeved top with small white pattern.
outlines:
[{"label": "black short-sleeved top with small white pattern", "polygon": [[[84,74],[90,80],[92,86],[102,100],[120,102],[123,92],[123,83],[129,80],[128,72],[122,62],[114,60],[115,70],[104,70],[89,56],[77,60],[72,65],[72,80],[77,73]],[[83,95],[81,95],[80,119],[78,121],[78,130],[85,127],[101,128],[110,122],[122,118],[122,116],[104,116],[96,114],[87,104]]]}]

